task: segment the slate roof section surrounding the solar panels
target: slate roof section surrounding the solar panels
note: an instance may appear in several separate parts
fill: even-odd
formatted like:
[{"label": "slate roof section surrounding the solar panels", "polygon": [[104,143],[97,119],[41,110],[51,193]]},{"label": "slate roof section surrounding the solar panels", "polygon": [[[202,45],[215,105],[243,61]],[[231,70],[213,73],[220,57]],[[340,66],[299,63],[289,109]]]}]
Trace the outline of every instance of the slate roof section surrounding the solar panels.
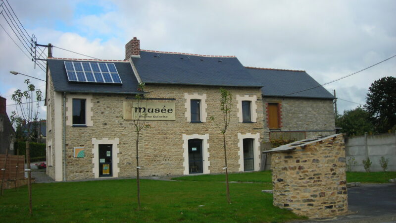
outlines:
[{"label": "slate roof section surrounding the solar panels", "polygon": [[67,79],[64,61],[96,62],[98,60],[81,59],[57,59],[48,58],[49,71],[55,91],[65,92],[90,92],[90,93],[114,93],[114,94],[135,94],[138,93],[138,81],[132,71],[131,63],[128,61],[105,61],[114,63],[123,84],[103,84],[103,83],[76,83]]}]

